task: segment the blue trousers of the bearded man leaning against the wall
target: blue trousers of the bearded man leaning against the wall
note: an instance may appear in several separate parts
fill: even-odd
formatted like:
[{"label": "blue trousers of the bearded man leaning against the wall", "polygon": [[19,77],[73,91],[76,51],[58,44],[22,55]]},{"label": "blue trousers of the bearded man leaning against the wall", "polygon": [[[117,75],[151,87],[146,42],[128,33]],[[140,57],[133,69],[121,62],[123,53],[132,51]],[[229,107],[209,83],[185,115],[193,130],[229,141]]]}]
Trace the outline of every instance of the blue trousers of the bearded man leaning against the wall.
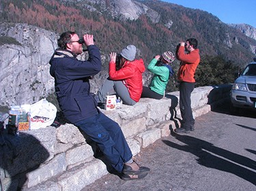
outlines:
[{"label": "blue trousers of the bearded man leaning against the wall", "polygon": [[132,152],[119,124],[101,112],[96,116],[76,122],[74,125],[97,143],[116,171],[121,172],[124,162],[132,158]]}]

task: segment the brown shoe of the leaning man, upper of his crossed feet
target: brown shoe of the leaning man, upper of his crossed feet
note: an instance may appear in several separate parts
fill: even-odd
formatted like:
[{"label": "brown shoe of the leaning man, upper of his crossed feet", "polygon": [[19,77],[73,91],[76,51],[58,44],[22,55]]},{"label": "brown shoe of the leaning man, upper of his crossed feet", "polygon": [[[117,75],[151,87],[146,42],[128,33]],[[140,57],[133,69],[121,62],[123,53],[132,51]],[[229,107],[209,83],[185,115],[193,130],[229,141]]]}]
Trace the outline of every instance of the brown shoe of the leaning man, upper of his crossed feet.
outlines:
[{"label": "brown shoe of the leaning man, upper of his crossed feet", "polygon": [[[150,172],[150,169],[147,167],[139,167],[135,161],[131,164],[124,164],[124,169],[122,171],[125,175],[142,175]],[[144,176],[145,177],[145,176]]]}]

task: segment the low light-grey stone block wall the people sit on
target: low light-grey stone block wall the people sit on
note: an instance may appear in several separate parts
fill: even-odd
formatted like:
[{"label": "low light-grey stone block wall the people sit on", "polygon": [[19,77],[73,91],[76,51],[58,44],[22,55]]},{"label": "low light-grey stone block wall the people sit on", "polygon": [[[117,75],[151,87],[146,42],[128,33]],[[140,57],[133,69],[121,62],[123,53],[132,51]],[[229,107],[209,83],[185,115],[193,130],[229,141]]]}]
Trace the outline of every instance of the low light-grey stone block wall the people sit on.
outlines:
[{"label": "low light-grey stone block wall the people sit on", "polygon": [[[230,88],[231,85],[195,88],[192,94],[194,117],[227,101]],[[162,100],[141,99],[134,106],[122,105],[121,109],[102,112],[119,123],[132,154],[136,155],[157,139],[169,136],[171,128],[179,126],[178,100],[179,92],[171,92]],[[94,157],[94,143],[72,124],[0,138],[3,190],[17,187],[26,191],[81,190],[109,173],[102,162],[104,158]]]}]

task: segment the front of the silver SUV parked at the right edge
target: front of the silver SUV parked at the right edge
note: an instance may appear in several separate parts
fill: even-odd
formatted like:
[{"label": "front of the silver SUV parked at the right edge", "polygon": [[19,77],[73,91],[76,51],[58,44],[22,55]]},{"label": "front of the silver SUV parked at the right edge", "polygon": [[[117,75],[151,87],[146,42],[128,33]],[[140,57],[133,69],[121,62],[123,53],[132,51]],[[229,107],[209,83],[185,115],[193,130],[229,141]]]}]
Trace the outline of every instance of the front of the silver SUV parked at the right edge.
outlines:
[{"label": "front of the silver SUV parked at the right edge", "polygon": [[233,83],[231,103],[234,109],[236,107],[256,109],[256,62],[248,64]]}]

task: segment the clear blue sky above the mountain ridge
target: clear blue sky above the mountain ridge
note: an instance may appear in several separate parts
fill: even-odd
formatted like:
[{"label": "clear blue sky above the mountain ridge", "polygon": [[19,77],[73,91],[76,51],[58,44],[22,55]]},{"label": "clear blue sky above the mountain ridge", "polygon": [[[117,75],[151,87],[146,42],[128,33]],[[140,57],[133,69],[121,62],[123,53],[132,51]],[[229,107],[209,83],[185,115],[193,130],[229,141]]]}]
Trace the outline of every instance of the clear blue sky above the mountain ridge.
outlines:
[{"label": "clear blue sky above the mountain ridge", "polygon": [[199,9],[227,24],[250,24],[256,28],[256,0],[161,0]]}]

